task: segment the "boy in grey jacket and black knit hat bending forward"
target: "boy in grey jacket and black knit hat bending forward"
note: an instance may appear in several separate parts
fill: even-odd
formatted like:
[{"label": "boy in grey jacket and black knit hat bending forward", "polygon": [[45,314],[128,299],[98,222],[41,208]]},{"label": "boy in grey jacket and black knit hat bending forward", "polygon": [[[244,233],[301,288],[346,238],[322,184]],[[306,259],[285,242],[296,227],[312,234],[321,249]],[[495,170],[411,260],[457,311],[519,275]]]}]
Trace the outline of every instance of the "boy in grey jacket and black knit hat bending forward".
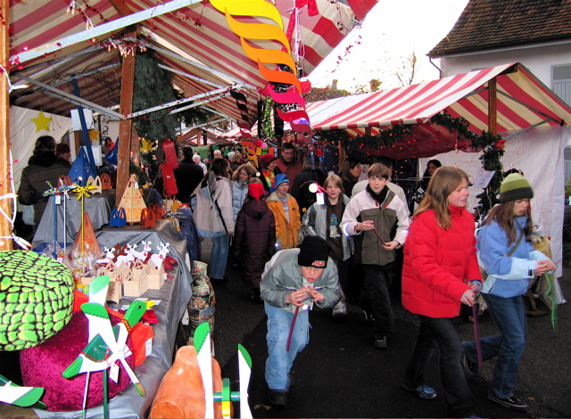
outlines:
[{"label": "boy in grey jacket and black knit hat bending forward", "polygon": [[308,311],[315,301],[332,308],[339,300],[337,267],[327,263],[329,244],[309,236],[300,249],[278,251],[261,275],[261,299],[268,315],[266,382],[269,402],[285,407],[295,356],[309,341]]}]

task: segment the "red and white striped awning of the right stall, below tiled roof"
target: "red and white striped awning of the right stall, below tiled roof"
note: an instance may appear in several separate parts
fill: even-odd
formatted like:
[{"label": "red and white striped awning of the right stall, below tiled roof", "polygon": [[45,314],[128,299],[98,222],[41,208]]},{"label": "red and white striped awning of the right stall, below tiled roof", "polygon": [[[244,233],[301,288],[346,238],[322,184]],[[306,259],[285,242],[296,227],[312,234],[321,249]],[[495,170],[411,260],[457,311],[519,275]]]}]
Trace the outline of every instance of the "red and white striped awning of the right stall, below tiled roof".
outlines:
[{"label": "red and white striped awning of the right stall, below tiled roof", "polygon": [[[468,150],[470,144],[430,119],[446,111],[462,117],[469,129],[480,134],[488,127],[488,84],[497,88],[497,132],[513,136],[533,127],[569,124],[571,107],[544,86],[519,63],[471,71],[418,85],[368,94],[355,94],[308,103],[314,134],[344,129],[352,136],[395,125],[412,125],[411,134],[391,149],[377,151],[393,158],[429,157],[454,149]],[[289,127],[285,125],[285,130]],[[227,136],[231,136],[228,133]]]}]

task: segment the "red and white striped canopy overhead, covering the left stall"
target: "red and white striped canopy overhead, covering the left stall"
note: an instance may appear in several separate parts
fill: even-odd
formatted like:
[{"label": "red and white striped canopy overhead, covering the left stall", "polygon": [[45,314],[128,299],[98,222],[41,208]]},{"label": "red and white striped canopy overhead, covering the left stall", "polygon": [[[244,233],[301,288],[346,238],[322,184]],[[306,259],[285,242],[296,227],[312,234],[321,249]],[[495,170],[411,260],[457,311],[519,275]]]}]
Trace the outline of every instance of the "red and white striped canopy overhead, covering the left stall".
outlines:
[{"label": "red and white striped canopy overhead, covering the left stall", "polygon": [[[69,0],[34,0],[10,2],[10,56],[16,57],[26,50],[57,45],[63,37],[86,30],[86,20],[95,26],[117,21],[132,13],[151,10],[153,7],[167,2],[154,0],[95,0],[82,4],[83,12],[66,13]],[[285,28],[292,10],[291,0],[277,0]],[[302,34],[304,53],[299,65],[305,75],[321,62],[333,48],[338,45],[354,27],[355,20],[352,8],[362,18],[376,4],[376,0],[352,0],[349,5],[330,0],[311,0],[318,7],[319,14],[310,16],[308,6],[300,8],[300,31]],[[257,22],[254,18],[244,21]],[[174,73],[173,82],[184,91],[186,97],[205,94],[217,86],[232,86],[243,84],[240,91],[248,98],[248,118],[252,124],[257,118],[258,88],[266,85],[261,77],[257,62],[248,58],[242,48],[240,38],[228,27],[223,13],[216,10],[208,1],[196,2],[182,7],[176,12],[168,12],[160,16],[142,21],[140,25],[153,33],[149,39],[150,45],[158,48],[155,54]],[[12,84],[22,84],[20,75],[34,78],[48,86],[59,80],[77,75],[79,91],[82,99],[105,108],[120,102],[120,55],[117,50],[107,52],[101,47],[106,39],[121,39],[125,36],[124,29],[106,33],[101,37],[62,47],[54,53],[46,53],[37,58],[14,63],[10,67]],[[269,41],[266,41],[269,42]],[[264,45],[258,41],[259,47]],[[180,60],[169,53],[178,49],[192,60],[200,62],[199,69],[189,62]],[[89,72],[90,76],[83,76]],[[187,78],[191,74],[199,79]],[[69,82],[58,85],[67,94],[73,94]],[[62,99],[61,95],[50,93],[38,86],[30,86],[13,90],[12,104],[31,109],[43,110],[55,114],[69,116],[69,111],[75,108],[73,103]],[[236,107],[236,100],[231,96],[216,96],[211,107],[233,119],[241,120],[242,112]]]}]

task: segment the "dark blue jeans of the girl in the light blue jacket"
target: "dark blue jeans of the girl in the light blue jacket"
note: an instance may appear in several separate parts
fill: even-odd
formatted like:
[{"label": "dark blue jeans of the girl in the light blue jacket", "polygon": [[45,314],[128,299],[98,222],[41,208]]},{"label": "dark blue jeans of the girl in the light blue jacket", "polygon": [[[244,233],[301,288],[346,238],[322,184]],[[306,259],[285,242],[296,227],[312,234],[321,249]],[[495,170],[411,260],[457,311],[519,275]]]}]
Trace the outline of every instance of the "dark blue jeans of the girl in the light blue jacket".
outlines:
[{"label": "dark blue jeans of the girl in the light blue jacket", "polygon": [[[525,303],[520,295],[503,298],[484,294],[493,323],[500,333],[480,339],[482,360],[498,357],[493,369],[489,392],[497,398],[510,398],[514,395],[517,370],[525,349]],[[464,342],[466,356],[476,362],[476,342]]]}]

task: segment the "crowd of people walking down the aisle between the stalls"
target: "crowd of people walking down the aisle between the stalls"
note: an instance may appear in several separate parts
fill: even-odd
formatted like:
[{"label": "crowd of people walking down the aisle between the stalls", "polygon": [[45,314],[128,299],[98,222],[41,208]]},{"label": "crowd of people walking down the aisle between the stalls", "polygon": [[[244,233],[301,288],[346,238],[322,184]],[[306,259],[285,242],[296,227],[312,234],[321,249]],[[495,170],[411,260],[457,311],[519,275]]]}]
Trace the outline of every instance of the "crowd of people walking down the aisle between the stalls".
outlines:
[{"label": "crowd of people walking down the aisle between the stalls", "polygon": [[[412,215],[404,192],[391,182],[393,165],[385,157],[373,161],[364,181],[360,160],[349,158],[340,176],[326,177],[312,155],[296,159],[292,144],[285,144],[279,158],[266,154],[258,168],[249,166],[236,166],[232,182],[230,163],[221,153],[215,156],[194,192],[199,198],[194,220],[201,235],[213,237],[212,283],[228,281],[223,275],[234,235],[231,256],[252,300],[264,304],[272,405],[287,403],[294,359],[309,341],[313,303],[332,308],[334,317],[346,316],[354,283],[360,283],[355,272],[362,273],[362,283],[352,301],[370,316],[371,344],[390,348],[398,331],[389,288],[401,265],[403,306],[420,320],[402,387],[420,398],[437,397],[424,372],[438,349],[447,416],[475,416],[467,376],[478,374],[476,342],[460,342],[452,318],[462,305],[472,307],[481,292],[499,330],[477,345],[484,359],[497,357],[488,398],[525,410],[514,393],[525,348],[523,294],[535,275],[555,269],[534,251],[533,188],[525,177],[505,178],[501,204],[476,234],[467,208],[468,175],[438,160],[428,162]],[[207,205],[201,207],[201,201]]]}]

